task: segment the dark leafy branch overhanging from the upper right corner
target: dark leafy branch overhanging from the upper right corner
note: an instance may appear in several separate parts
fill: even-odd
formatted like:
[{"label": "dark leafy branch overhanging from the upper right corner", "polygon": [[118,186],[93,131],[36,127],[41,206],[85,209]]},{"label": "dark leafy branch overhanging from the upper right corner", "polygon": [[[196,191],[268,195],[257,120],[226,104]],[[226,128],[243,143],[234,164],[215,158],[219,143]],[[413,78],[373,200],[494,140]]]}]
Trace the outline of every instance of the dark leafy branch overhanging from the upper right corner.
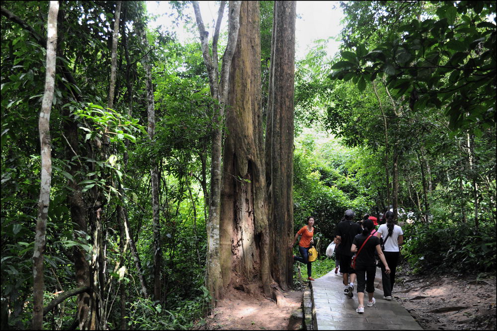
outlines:
[{"label": "dark leafy branch overhanging from the upper right corner", "polygon": [[355,50],[340,53],[330,78],[352,80],[360,91],[383,78],[411,111],[441,109],[451,129],[488,128],[495,122],[495,14],[494,1],[444,1],[425,19],[387,31],[372,49],[350,45]]}]

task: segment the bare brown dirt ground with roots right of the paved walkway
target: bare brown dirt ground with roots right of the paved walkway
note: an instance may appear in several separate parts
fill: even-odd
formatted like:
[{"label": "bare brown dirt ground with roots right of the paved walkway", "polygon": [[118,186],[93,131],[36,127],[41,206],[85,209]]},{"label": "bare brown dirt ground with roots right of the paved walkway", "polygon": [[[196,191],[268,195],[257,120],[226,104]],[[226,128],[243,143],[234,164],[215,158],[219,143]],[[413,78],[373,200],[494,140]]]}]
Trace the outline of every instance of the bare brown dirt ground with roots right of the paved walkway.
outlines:
[{"label": "bare brown dirt ground with roots right of the paved walkway", "polygon": [[495,273],[477,279],[401,268],[394,297],[424,330],[496,330]]}]

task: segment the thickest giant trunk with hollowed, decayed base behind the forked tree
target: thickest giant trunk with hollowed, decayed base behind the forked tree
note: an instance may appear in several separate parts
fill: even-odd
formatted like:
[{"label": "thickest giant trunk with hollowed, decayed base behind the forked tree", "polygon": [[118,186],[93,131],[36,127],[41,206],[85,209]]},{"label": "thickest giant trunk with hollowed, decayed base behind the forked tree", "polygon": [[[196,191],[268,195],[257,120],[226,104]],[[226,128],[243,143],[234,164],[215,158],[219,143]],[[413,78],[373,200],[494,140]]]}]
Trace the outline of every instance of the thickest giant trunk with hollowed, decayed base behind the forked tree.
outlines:
[{"label": "thickest giant trunk with hollowed, decayed base behind the forked tree", "polygon": [[243,1],[227,100],[220,255],[224,287],[251,293],[262,282],[270,297],[259,29],[258,2]]}]

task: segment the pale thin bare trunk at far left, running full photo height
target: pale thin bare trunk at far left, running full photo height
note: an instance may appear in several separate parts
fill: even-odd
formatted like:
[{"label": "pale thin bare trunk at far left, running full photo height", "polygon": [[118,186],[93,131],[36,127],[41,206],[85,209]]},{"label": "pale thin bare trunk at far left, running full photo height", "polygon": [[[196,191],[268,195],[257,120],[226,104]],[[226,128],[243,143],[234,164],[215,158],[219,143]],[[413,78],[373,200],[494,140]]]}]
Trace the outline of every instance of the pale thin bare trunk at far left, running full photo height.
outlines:
[{"label": "pale thin bare trunk at far left, running full photo height", "polygon": [[55,89],[55,63],[57,58],[57,14],[59,1],[50,1],[47,22],[47,64],[45,93],[38,121],[41,147],[41,182],[38,201],[38,219],[33,253],[33,330],[43,329],[43,253],[47,229],[48,207],[50,205],[50,183],[52,180],[52,146],[50,139],[50,112]]}]

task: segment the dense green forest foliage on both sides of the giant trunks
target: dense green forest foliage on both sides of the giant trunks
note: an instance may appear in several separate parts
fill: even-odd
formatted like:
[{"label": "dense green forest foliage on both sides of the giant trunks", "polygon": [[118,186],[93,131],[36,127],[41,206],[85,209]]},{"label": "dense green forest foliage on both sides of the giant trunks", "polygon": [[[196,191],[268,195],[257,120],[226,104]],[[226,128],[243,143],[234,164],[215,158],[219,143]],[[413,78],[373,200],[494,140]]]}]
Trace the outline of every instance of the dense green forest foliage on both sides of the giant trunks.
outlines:
[{"label": "dense green forest foliage on both sides of the giant trunks", "polygon": [[[171,15],[191,26],[186,5],[171,1]],[[260,5],[264,116],[272,5]],[[340,52],[327,55],[319,40],[295,67],[294,230],[314,216],[324,255],[346,209],[356,219],[380,217],[397,204],[403,255],[417,271],[495,272],[495,1],[341,5]],[[29,329],[48,2],[1,7],[1,329]],[[81,285],[82,256],[103,280],[104,328],[189,329],[211,300],[204,265],[214,102],[197,40],[149,29],[145,4],[123,1],[114,106],[106,108],[115,8],[115,1],[60,1],[45,304]],[[144,295],[154,283],[153,167],[158,298]],[[322,256],[313,275],[333,267]],[[66,299],[44,327],[77,328],[79,304]]]}]

